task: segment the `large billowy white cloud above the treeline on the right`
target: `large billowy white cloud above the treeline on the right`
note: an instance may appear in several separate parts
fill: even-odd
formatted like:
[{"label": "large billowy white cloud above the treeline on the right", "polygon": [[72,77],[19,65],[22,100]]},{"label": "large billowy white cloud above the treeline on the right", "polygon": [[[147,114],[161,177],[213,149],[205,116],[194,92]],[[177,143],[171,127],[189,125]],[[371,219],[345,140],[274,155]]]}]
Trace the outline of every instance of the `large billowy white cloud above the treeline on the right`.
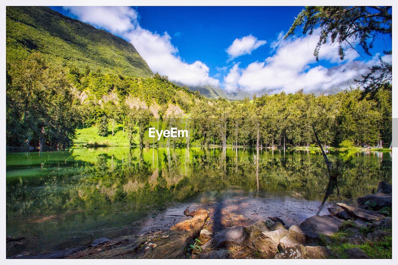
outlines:
[{"label": "large billowy white cloud above the treeline on the right", "polygon": [[267,90],[275,93],[284,90],[289,93],[301,88],[304,92],[328,90],[341,83],[347,87],[354,85],[353,79],[366,71],[364,64],[353,62],[358,56],[356,53],[347,54],[341,61],[337,48],[322,45],[319,59],[339,63],[341,66],[331,69],[324,66],[311,67],[311,64],[316,63],[313,55],[318,42],[316,36],[318,32],[314,31],[312,37],[283,40],[283,33],[279,34],[277,40],[271,43],[271,49],[275,51],[272,56],[263,62],[252,62],[243,69],[234,64],[224,78],[224,88],[233,90],[240,87],[249,92]]}]

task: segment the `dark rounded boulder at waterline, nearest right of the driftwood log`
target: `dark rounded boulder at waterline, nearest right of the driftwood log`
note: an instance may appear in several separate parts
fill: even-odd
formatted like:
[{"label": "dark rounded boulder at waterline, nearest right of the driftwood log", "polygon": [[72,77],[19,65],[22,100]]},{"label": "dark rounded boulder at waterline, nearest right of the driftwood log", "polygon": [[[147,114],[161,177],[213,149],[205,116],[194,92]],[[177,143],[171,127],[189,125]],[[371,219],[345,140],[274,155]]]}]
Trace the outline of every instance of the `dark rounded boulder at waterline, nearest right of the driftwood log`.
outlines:
[{"label": "dark rounded boulder at waterline, nearest right of the driftwood log", "polygon": [[244,226],[231,226],[214,236],[213,247],[244,246],[247,238]]}]

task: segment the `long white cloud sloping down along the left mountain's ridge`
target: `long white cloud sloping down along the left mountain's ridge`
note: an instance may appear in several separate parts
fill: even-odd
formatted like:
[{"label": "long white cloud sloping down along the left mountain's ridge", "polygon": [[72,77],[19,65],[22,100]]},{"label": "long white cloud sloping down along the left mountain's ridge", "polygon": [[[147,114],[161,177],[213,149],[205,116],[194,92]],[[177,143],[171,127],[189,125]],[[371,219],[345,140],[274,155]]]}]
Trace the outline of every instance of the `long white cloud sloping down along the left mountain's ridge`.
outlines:
[{"label": "long white cloud sloping down along the left mountain's ridge", "polygon": [[140,27],[138,14],[133,8],[75,6],[65,9],[86,23],[119,34],[130,41],[153,72],[167,75],[171,81],[189,86],[219,84],[219,80],[209,76],[209,67],[203,62],[184,62],[167,32],[161,35]]}]

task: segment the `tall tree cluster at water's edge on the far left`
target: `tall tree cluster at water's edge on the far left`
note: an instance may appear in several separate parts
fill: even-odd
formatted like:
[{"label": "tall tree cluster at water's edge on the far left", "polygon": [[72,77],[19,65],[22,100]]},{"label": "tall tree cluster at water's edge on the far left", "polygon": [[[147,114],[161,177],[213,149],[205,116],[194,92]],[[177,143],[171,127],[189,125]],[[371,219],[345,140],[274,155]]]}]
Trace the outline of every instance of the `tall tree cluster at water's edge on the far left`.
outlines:
[{"label": "tall tree cluster at water's edge on the far left", "polygon": [[32,53],[12,64],[7,74],[6,144],[70,144],[80,115],[63,69]]}]

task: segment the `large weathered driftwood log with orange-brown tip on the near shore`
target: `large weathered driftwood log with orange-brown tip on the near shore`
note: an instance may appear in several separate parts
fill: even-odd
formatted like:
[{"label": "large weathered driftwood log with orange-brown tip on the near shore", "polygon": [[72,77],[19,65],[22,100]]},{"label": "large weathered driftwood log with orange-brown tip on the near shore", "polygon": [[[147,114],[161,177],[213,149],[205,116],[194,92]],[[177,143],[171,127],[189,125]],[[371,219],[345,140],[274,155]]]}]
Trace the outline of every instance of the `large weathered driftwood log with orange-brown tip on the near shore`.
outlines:
[{"label": "large weathered driftwood log with orange-brown tip on the near shore", "polygon": [[175,259],[181,256],[188,242],[199,234],[208,217],[207,210],[199,209],[193,218],[179,222],[169,230],[141,237],[123,236],[106,244],[77,252],[70,258]]}]

